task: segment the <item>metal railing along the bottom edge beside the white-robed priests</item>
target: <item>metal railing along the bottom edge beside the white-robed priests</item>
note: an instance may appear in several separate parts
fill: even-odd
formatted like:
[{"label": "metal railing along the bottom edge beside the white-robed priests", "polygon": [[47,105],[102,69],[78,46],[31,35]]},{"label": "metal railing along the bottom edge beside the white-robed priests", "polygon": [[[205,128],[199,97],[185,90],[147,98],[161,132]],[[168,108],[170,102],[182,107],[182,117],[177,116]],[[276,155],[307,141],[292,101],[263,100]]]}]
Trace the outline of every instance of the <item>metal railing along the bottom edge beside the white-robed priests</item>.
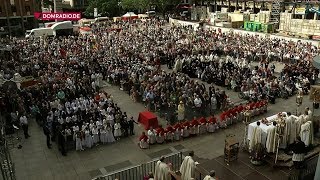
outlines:
[{"label": "metal railing along the bottom edge beside the white-robed priests", "polygon": [[[172,170],[179,170],[183,160],[182,152],[168,154],[165,157],[166,161],[172,164]],[[92,180],[143,180],[144,176],[146,176],[149,172],[154,173],[157,162],[158,159],[155,159],[145,164],[131,166],[106,175],[98,176]]]}]

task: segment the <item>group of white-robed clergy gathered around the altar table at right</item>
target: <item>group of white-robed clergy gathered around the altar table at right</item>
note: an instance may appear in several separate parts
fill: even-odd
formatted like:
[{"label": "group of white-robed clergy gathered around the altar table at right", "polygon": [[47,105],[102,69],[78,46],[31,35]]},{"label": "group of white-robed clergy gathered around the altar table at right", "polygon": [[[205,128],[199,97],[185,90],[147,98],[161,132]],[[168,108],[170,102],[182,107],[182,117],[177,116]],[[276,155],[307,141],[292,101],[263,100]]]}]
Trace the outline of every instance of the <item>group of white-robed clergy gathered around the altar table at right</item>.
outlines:
[{"label": "group of white-robed clergy gathered around the altar table at right", "polygon": [[[249,151],[253,154],[261,153],[257,151],[263,150],[266,153],[278,153],[279,149],[283,149],[293,152],[292,161],[294,163],[302,162],[307,149],[314,142],[312,113],[307,107],[304,113],[299,116],[292,115],[291,112],[279,112],[249,124]],[[264,149],[259,150],[257,147],[260,146]],[[261,154],[263,155],[263,153]]]}]

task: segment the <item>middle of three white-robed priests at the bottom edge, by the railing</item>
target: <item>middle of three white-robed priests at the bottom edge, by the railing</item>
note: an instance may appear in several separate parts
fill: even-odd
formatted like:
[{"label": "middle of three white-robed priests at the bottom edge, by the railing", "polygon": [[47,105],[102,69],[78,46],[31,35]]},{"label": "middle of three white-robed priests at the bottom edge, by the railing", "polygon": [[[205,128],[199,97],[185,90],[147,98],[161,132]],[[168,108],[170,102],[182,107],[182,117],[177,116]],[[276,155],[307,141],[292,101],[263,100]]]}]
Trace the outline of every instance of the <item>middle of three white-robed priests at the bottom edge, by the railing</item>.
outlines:
[{"label": "middle of three white-robed priests at the bottom edge, by the railing", "polygon": [[181,164],[180,172],[182,180],[189,180],[191,178],[194,178],[197,162],[193,160],[193,156],[194,152],[191,151],[189,153],[189,156],[186,156]]}]

